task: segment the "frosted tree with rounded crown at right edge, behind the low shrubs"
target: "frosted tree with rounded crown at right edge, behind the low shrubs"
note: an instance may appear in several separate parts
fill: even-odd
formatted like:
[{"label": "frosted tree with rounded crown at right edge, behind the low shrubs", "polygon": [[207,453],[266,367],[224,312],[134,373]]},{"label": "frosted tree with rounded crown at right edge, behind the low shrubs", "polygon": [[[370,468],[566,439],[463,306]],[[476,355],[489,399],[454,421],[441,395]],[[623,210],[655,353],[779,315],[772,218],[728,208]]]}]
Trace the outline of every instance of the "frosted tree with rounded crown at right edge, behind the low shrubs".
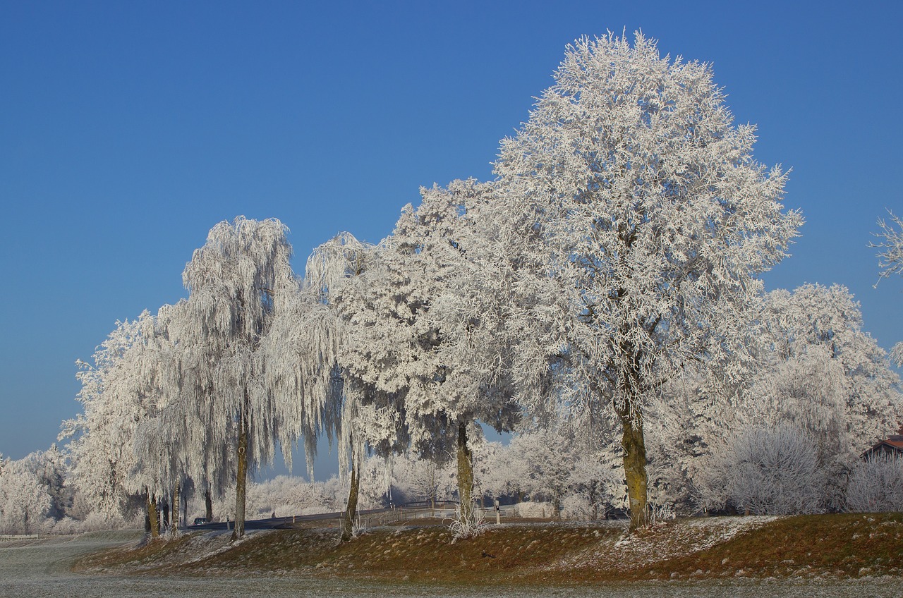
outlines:
[{"label": "frosted tree with rounded crown at right edge, behind the low shrubs", "polygon": [[[793,293],[769,293],[758,332],[765,347],[750,374],[750,423],[787,422],[805,430],[837,480],[865,449],[898,428],[899,378],[885,351],[862,331],[859,304],[846,287],[802,285]],[[829,506],[837,508],[842,489],[833,495]]]}]

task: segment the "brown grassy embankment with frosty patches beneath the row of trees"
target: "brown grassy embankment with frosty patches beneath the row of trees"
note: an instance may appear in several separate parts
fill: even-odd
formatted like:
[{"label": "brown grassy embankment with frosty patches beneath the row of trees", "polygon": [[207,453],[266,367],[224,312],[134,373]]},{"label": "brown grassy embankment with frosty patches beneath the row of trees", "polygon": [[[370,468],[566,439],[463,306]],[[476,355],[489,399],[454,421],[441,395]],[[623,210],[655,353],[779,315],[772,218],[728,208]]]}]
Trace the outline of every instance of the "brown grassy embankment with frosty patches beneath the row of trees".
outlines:
[{"label": "brown grassy embankment with frosty patches beneath the row of trees", "polygon": [[620,524],[259,532],[236,544],[194,534],[88,556],[90,573],[292,575],[440,584],[592,584],[725,577],[903,576],[903,514],[683,519],[628,534]]}]

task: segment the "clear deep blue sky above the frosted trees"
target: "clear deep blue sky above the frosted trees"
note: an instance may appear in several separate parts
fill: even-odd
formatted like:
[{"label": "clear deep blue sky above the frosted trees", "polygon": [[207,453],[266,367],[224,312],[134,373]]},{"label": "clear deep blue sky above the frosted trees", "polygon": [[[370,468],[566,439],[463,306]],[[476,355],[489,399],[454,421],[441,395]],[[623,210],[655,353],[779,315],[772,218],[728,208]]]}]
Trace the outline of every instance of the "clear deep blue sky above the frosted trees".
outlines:
[{"label": "clear deep blue sky above the frosted trees", "polygon": [[769,288],[847,285],[903,340],[867,247],[903,215],[899,3],[439,4],[0,2],[0,452],[55,441],[74,361],[182,297],[216,222],[283,220],[299,270],[340,230],[377,241],[420,185],[489,179],[564,46],[607,30],[712,62],[793,168],[806,224]]}]

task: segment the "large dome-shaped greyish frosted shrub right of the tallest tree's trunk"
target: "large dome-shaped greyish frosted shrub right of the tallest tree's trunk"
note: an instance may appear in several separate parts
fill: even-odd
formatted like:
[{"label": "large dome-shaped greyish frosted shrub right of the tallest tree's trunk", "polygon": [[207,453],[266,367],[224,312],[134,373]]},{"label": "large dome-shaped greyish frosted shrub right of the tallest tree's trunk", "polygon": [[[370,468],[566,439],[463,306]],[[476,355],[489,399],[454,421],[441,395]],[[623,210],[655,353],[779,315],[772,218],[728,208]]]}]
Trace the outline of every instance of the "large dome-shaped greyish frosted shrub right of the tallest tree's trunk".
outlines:
[{"label": "large dome-shaped greyish frosted shrub right of the tallest tree's trunk", "polygon": [[824,472],[812,439],[790,425],[750,427],[716,447],[699,476],[705,507],[756,515],[824,511]]}]

